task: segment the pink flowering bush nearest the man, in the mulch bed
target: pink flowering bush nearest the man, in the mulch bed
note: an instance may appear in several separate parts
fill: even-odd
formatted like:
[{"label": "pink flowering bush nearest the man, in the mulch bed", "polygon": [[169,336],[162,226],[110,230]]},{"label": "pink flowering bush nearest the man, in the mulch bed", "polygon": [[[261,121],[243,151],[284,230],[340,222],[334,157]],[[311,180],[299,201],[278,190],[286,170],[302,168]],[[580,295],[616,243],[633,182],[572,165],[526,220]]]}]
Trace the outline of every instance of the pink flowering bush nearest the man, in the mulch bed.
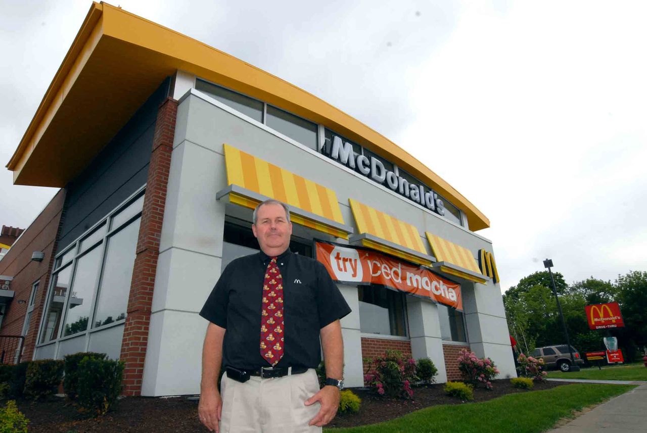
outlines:
[{"label": "pink flowering bush nearest the man, in the mulch bed", "polygon": [[380,396],[413,398],[411,383],[418,381],[415,374],[415,359],[410,359],[397,350],[387,350],[380,357],[369,361],[364,383]]}]

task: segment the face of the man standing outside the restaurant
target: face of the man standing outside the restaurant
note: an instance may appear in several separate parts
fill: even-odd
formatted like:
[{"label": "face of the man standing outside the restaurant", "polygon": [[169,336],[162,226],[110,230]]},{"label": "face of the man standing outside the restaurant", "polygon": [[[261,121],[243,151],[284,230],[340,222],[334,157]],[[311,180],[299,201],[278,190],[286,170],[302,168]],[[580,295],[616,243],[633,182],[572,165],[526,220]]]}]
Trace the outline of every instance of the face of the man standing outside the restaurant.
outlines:
[{"label": "face of the man standing outside the restaurant", "polygon": [[269,256],[279,255],[290,246],[292,223],[287,222],[285,209],[280,204],[259,207],[252,231],[261,250]]}]

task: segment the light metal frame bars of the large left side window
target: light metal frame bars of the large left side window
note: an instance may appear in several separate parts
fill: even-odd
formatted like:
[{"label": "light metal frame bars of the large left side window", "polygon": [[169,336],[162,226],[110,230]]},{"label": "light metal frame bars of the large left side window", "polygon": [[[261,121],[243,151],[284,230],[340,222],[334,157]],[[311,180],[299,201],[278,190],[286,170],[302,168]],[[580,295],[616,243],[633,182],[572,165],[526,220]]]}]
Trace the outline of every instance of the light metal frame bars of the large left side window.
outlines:
[{"label": "light metal frame bars of the large left side window", "polygon": [[[142,202],[142,209],[138,210],[135,214],[129,216],[126,220],[124,220],[124,222],[122,222],[117,227],[109,227],[109,224],[111,224],[112,222],[111,218],[113,218],[113,216],[116,216],[118,213],[126,209],[134,202],[136,202],[141,196],[144,196],[145,194],[146,194],[146,184],[138,188],[137,191],[135,191],[135,193],[131,194],[128,198],[126,198],[126,200],[124,200],[114,209],[109,211],[107,215],[105,215],[103,218],[98,220],[95,224],[93,224],[93,226],[89,227],[89,229],[84,231],[82,235],[74,239],[68,246],[61,249],[60,253],[56,254],[56,256],[54,257],[54,269],[52,269],[52,271],[49,273],[50,281],[47,288],[45,303],[43,304],[43,314],[41,315],[41,319],[39,322],[38,335],[36,337],[36,346],[35,346],[36,348],[49,346],[50,344],[56,344],[56,350],[54,352],[58,355],[58,345],[62,341],[67,341],[78,337],[85,337],[85,347],[87,349],[87,345],[89,344],[89,335],[91,333],[99,332],[107,328],[111,328],[113,326],[120,326],[126,322],[126,318],[124,318],[119,321],[111,322],[103,326],[92,328],[92,321],[94,320],[94,313],[96,311],[96,301],[98,299],[98,289],[100,288],[102,276],[104,273],[105,253],[106,253],[105,247],[107,245],[107,240],[109,237],[111,237],[111,235],[117,233],[118,231],[126,227],[128,224],[131,224],[133,221],[137,220],[137,218],[140,218],[142,216],[144,204]],[[83,251],[80,251],[81,242],[83,242],[85,238],[89,237],[89,235],[92,235],[94,231],[96,231],[96,229],[102,226],[102,224],[105,224],[106,228],[105,228],[104,236],[101,238],[101,240],[97,240],[96,242],[93,242],[91,246],[88,246],[87,248],[83,249]],[[72,289],[74,289],[74,280],[76,279],[77,261],[87,253],[90,253],[91,251],[93,251],[94,248],[101,249],[101,256],[100,256],[98,273],[96,275],[96,279],[94,281],[94,286],[93,286],[92,302],[90,305],[91,310],[88,317],[88,326],[85,329],[85,331],[77,332],[72,335],[63,336],[65,321],[67,320],[67,313],[69,310],[69,298],[71,296]],[[63,256],[67,255],[71,251],[72,251],[71,259],[68,259],[65,262],[63,262],[62,260]],[[61,259],[60,262],[59,262],[59,259]],[[58,332],[56,333],[57,337],[50,341],[43,341],[43,343],[39,343],[41,340],[41,337],[43,336],[43,332],[45,332],[45,330],[43,329],[43,326],[45,326],[45,321],[47,321],[47,316],[49,316],[49,306],[50,306],[50,302],[52,301],[52,296],[54,296],[54,275],[59,271],[63,270],[64,268],[67,268],[67,266],[71,266],[72,273],[70,275],[69,288],[65,293],[65,300],[63,301],[63,307],[62,307],[63,311],[61,312],[61,318],[58,324]]]}]

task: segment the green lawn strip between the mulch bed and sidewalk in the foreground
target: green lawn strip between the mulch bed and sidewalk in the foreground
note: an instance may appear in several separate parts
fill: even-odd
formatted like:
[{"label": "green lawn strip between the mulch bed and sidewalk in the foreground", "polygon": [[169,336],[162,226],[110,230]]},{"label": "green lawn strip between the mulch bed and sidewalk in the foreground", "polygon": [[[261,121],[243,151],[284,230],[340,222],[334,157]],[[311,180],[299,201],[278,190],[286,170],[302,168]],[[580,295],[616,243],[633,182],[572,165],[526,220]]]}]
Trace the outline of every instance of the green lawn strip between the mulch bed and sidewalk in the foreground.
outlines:
[{"label": "green lawn strip between the mulch bed and sidewalk in the foreground", "polygon": [[575,410],[601,403],[631,388],[633,385],[577,383],[550,390],[509,394],[483,403],[434,406],[380,424],[326,431],[539,433],[553,427],[558,419],[572,416]]}]

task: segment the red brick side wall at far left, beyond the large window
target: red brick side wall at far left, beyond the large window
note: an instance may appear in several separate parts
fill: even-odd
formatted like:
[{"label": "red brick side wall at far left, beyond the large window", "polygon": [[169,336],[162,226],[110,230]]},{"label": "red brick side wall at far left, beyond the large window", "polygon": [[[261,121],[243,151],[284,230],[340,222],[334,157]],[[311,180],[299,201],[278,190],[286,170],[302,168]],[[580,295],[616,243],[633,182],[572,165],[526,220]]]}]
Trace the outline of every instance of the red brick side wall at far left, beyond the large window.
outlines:
[{"label": "red brick side wall at far left, beyond the large window", "polygon": [[[20,335],[25,322],[32,285],[34,282],[39,281],[38,293],[36,293],[36,300],[34,301],[34,311],[29,322],[27,335],[25,335],[25,350],[23,351],[22,361],[31,361],[34,354],[38,326],[43,315],[47,288],[49,287],[49,279],[54,265],[54,251],[56,251],[56,238],[58,238],[58,231],[63,218],[63,204],[65,204],[65,190],[61,189],[54,195],[45,209],[36,216],[34,222],[9,249],[5,257],[0,260],[0,275],[14,277],[11,282],[11,290],[15,292],[14,299],[9,302],[8,308],[5,310],[0,335]],[[43,251],[45,253],[45,258],[42,262],[33,262],[31,260],[34,251]],[[25,301],[25,303],[19,304],[18,301]],[[0,341],[10,340],[0,339]],[[12,356],[5,354],[5,362],[12,361],[12,358],[13,354]]]}]

